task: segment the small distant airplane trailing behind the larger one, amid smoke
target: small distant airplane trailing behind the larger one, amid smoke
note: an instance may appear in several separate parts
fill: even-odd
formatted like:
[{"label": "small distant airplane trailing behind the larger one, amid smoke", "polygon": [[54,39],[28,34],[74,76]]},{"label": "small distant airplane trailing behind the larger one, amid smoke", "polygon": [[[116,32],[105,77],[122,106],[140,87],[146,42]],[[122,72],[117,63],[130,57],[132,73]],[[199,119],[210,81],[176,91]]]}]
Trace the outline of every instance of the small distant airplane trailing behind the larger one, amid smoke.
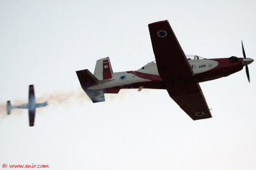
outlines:
[{"label": "small distant airplane trailing behind the larger one, amid smoke", "polygon": [[48,103],[46,101],[44,103],[36,103],[34,85],[29,85],[28,103],[21,104],[19,106],[12,106],[11,101],[7,101],[6,111],[7,111],[7,115],[10,115],[11,110],[15,109],[15,108],[28,109],[29,126],[34,126],[36,108],[45,107],[47,105],[48,105]]}]

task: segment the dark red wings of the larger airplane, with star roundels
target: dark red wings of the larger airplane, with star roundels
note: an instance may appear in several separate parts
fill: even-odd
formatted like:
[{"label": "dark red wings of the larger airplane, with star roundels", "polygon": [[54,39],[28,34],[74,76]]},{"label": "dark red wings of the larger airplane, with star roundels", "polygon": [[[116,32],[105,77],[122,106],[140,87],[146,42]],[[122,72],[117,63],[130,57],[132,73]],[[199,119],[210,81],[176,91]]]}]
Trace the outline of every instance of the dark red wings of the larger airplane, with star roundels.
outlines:
[{"label": "dark red wings of the larger airplane, with star roundels", "polygon": [[211,118],[204,94],[168,20],[148,24],[159,75],[170,97],[193,120]]}]

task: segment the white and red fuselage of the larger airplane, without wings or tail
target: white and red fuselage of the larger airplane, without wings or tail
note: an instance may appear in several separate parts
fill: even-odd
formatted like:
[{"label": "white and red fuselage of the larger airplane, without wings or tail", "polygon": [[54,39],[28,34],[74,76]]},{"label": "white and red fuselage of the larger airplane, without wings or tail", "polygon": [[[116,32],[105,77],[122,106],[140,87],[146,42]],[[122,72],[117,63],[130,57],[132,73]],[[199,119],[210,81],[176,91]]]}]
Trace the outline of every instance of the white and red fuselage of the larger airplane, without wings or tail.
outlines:
[{"label": "white and red fuselage of the larger airplane, without wings or tail", "polygon": [[[195,55],[196,56],[196,55]],[[194,76],[193,81],[195,83],[214,80],[223,76],[236,73],[243,69],[241,62],[243,58],[236,58],[232,60],[228,58],[224,59],[190,59],[188,60],[191,69],[193,70]],[[173,63],[170,63],[172,67]],[[176,63],[179,64],[179,63]],[[180,73],[182,74],[182,72]],[[165,89],[164,83],[162,83],[161,77],[157,71],[156,62],[149,62],[145,66],[141,67],[136,71],[124,71],[113,73],[111,79],[108,79],[104,83],[99,83],[88,87],[92,90],[103,90],[108,93],[110,89]],[[170,83],[180,83],[179,78],[173,80]],[[185,82],[182,82],[185,83]],[[109,93],[118,93],[117,91],[109,91]]]}]

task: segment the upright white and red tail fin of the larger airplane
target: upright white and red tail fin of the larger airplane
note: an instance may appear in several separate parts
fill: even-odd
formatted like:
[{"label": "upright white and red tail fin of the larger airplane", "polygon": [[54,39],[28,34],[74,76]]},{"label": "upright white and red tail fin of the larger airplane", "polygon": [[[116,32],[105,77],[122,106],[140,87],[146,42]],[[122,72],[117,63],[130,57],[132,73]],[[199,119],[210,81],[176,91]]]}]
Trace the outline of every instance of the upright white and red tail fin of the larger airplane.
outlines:
[{"label": "upright white and red tail fin of the larger airplane", "polygon": [[97,60],[93,74],[99,80],[108,80],[112,78],[113,70],[111,67],[109,57]]}]

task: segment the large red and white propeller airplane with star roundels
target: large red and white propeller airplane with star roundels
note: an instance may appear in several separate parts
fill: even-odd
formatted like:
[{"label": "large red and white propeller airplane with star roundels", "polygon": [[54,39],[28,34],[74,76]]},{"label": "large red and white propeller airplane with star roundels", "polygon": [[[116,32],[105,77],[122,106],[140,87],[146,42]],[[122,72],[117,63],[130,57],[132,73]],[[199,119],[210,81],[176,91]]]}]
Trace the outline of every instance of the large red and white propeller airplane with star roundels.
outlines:
[{"label": "large red and white propeller airplane with star roundels", "polygon": [[173,101],[193,120],[211,118],[199,83],[229,76],[248,64],[242,41],[243,58],[232,56],[205,59],[185,55],[168,20],[148,24],[156,62],[149,62],[136,71],[113,73],[109,57],[96,62],[94,73],[88,69],[76,71],[84,92],[93,103],[105,101],[104,94],[118,94],[120,89],[166,89]]}]

